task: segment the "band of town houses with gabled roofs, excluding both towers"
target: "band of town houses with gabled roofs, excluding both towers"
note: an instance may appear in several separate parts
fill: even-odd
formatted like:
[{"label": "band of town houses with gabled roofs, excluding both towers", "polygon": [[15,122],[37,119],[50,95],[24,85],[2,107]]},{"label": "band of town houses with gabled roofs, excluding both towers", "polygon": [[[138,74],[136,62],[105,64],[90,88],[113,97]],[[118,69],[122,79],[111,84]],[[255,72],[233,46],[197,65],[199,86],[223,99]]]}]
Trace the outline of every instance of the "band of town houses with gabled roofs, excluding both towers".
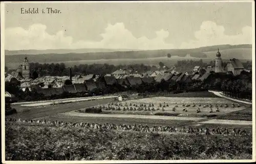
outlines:
[{"label": "band of town houses with gabled roofs, excluding both towers", "polygon": [[[209,73],[206,69],[196,66],[193,72],[178,73],[175,67],[172,69],[146,72],[138,74],[129,72],[126,69],[119,69],[112,74],[104,76],[100,75],[75,75],[75,76],[45,76],[38,77],[34,80],[31,78],[17,79],[20,81],[20,88],[24,91],[35,89],[45,96],[60,95],[64,91],[70,93],[89,92],[96,88],[105,89],[108,86],[120,84],[123,87],[140,85],[142,83],[160,83],[162,80],[166,82],[190,83],[193,80],[203,81]],[[5,80],[10,81],[15,78],[13,75],[7,75]],[[72,85],[65,85],[66,80],[72,80]]]}]

